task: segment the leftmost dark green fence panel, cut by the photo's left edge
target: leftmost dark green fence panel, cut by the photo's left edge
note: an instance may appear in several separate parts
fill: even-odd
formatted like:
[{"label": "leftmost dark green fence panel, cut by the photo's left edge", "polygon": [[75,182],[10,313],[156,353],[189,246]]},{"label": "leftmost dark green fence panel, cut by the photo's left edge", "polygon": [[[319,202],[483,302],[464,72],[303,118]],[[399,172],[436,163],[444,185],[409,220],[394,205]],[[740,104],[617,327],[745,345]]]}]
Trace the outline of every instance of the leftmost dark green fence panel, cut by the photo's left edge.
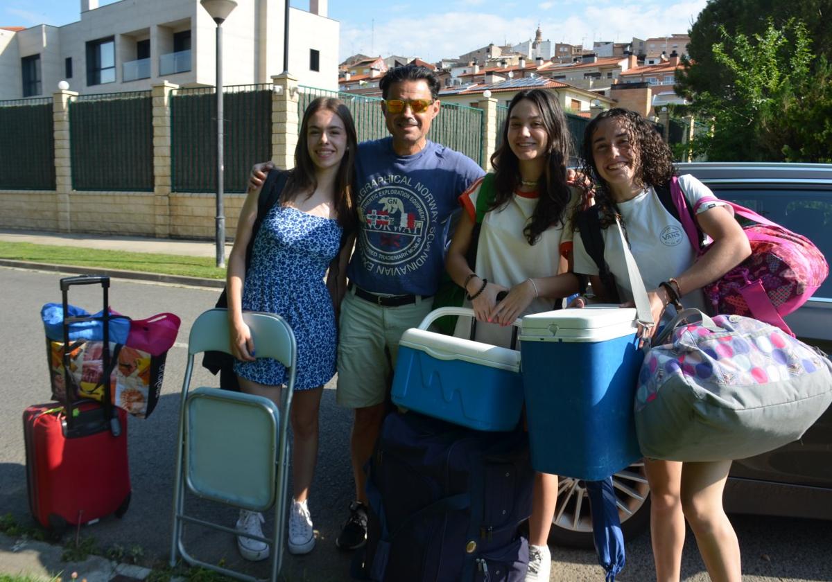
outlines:
[{"label": "leftmost dark green fence panel, cut by the photo's left edge", "polygon": [[0,101],[0,189],[55,190],[52,98]]}]

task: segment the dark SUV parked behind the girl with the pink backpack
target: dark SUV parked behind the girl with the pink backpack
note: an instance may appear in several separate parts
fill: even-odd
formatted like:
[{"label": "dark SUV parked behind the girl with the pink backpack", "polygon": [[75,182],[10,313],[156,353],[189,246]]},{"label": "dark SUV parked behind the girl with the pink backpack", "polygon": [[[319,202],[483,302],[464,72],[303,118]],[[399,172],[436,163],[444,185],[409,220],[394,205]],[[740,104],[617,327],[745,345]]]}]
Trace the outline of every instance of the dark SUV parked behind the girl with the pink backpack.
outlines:
[{"label": "dark SUV parked behind the girl with the pink backpack", "polygon": [[[832,259],[832,165],[767,163],[680,164],[714,194],[803,234]],[[832,277],[785,318],[806,343],[832,352]],[[644,466],[613,476],[625,537],[650,525],[650,490]],[[592,519],[582,481],[562,478],[553,520],[553,543],[592,548]],[[800,441],[765,455],[734,461],[725,491],[726,510],[832,520],[832,407]]]}]

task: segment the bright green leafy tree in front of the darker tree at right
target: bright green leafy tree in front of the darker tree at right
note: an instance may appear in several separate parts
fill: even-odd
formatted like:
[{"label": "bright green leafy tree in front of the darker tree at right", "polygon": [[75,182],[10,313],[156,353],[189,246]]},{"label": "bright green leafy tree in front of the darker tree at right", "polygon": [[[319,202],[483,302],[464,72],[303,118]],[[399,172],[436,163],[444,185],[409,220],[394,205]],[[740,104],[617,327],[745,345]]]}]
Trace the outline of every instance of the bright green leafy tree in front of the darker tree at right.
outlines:
[{"label": "bright green leafy tree in front of the darker tree at right", "polygon": [[805,24],[790,19],[778,27],[770,18],[765,30],[752,35],[730,34],[726,27],[719,32],[710,64],[702,66],[716,82],[691,89],[700,65],[687,67],[690,109],[712,124],[710,134],[694,140],[694,152],[711,160],[832,160],[830,67],[812,52]]}]

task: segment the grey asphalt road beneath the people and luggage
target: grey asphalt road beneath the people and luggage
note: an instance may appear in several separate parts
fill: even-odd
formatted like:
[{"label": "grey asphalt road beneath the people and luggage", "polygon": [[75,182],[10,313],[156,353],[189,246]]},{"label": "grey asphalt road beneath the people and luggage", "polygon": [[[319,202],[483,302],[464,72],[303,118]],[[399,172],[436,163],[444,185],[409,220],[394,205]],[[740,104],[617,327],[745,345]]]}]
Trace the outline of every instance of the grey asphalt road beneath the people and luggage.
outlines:
[{"label": "grey asphalt road beneath the people and luggage", "polygon": [[[21,430],[23,409],[36,402],[47,402],[49,387],[45,361],[40,308],[43,303],[60,301],[60,275],[0,268],[0,515],[10,513],[22,523],[33,525],[28,512],[25,454]],[[163,284],[142,284],[113,280],[110,303],[113,308],[134,318],[172,312],[182,318],[178,343],[168,355],[162,396],[156,410],[146,420],[129,423],[129,450],[132,501],[119,520],[107,517],[85,525],[80,534],[94,537],[102,548],[121,545],[141,548],[143,565],[166,562],[171,545],[171,491],[176,453],[176,425],[179,394],[186,364],[186,341],[191,323],[203,310],[213,306],[215,289],[196,289]],[[100,290],[93,287],[72,289],[71,303],[91,311],[101,308]],[[196,368],[194,386],[215,385],[201,367]],[[321,435],[318,468],[314,479],[310,509],[318,545],[310,555],[285,555],[286,580],[349,580],[349,555],[334,547],[334,538],[352,499],[349,471],[350,415],[334,404],[334,382],[324,390],[321,407]],[[220,516],[229,525],[235,510],[191,501],[200,515]],[[825,521],[792,520],[755,516],[732,516],[743,555],[744,579],[749,582],[832,581],[832,524]],[[271,521],[267,522],[267,528]],[[225,560],[239,565],[230,535],[195,530],[189,547],[208,561]],[[655,580],[650,539],[641,535],[626,545],[627,565],[618,580]],[[593,552],[552,548],[552,582],[603,580]],[[265,575],[265,566],[243,564],[256,575]],[[2,563],[0,563],[2,572]],[[708,580],[696,543],[688,535],[682,580]]]}]

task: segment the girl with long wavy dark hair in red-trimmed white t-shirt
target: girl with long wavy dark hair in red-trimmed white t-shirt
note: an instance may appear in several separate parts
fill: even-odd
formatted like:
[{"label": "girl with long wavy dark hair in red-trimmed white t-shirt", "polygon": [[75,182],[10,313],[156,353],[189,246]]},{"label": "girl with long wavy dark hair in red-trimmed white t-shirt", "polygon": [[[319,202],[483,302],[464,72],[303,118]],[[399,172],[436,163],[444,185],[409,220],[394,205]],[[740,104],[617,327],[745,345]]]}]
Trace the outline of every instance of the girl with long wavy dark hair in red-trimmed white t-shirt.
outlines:
[{"label": "girl with long wavy dark hair in red-trimmed white t-shirt", "polygon": [[[516,318],[552,309],[557,299],[577,293],[578,279],[568,272],[572,228],[567,224],[580,198],[567,185],[570,140],[555,96],[540,89],[521,91],[508,107],[502,145],[491,158],[495,174],[460,196],[463,215],[446,264],[454,282],[468,293],[479,322],[478,341],[507,345]],[[492,184],[493,202],[483,218],[474,271],[466,253],[483,180]],[[498,298],[502,292],[507,294]],[[527,581],[549,580],[547,537],[556,501],[557,476],[537,473]]]}]

